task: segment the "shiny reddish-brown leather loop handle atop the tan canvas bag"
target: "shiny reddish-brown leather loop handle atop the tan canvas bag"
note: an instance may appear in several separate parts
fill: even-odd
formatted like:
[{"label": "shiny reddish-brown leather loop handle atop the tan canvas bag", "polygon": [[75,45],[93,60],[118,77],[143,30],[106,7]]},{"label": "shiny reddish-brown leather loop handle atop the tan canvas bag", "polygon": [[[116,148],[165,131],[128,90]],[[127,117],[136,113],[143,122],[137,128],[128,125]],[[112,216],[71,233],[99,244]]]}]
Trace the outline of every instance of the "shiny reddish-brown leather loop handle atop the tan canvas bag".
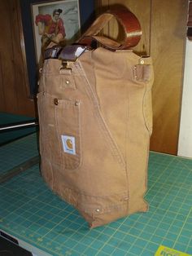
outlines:
[{"label": "shiny reddish-brown leather loop handle atop the tan canvas bag", "polygon": [[[124,31],[124,38],[121,42],[116,42],[107,37],[98,36],[98,33],[107,25],[107,23],[115,17],[119,21]],[[129,49],[136,46],[142,36],[142,29],[137,17],[126,8],[117,10],[109,10],[99,15],[94,23],[78,40],[78,43],[90,46],[93,40],[100,42],[103,46],[111,49]]]}]

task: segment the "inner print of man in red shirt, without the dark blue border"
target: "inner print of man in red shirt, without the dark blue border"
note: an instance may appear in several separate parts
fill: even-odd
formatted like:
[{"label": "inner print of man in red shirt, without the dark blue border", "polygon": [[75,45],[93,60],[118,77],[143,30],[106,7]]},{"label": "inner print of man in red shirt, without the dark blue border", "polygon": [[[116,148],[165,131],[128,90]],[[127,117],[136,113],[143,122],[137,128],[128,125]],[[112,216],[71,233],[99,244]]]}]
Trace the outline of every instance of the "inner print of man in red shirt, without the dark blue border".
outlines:
[{"label": "inner print of man in red shirt, without the dark blue border", "polygon": [[50,42],[72,44],[80,37],[80,11],[78,0],[32,3],[33,37],[36,60]]}]

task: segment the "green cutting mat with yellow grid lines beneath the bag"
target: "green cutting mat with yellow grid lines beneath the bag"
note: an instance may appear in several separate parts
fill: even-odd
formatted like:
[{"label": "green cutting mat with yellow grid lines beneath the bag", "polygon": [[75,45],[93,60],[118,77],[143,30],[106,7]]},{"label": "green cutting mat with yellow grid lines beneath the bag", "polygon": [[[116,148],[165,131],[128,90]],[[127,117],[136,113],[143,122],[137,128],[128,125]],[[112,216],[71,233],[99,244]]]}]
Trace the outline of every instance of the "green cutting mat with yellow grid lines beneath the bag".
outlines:
[{"label": "green cutting mat with yellow grid lines beneath the bag", "polygon": [[192,254],[192,161],[151,152],[148,176],[148,213],[90,230],[33,166],[0,186],[0,229],[52,255],[151,256],[159,245]]}]

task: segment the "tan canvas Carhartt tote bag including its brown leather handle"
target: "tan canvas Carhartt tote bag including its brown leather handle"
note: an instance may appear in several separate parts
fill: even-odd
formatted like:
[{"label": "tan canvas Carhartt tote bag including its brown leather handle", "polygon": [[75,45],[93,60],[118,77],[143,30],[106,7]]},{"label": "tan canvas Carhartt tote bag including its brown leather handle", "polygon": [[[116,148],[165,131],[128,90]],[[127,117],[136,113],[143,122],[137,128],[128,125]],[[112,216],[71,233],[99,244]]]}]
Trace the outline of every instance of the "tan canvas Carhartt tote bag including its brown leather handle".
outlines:
[{"label": "tan canvas Carhartt tote bag including its brown leather handle", "polygon": [[[114,17],[122,42],[98,36]],[[148,210],[153,68],[129,50],[141,34],[132,12],[108,11],[75,45],[46,51],[37,95],[41,174],[90,227]],[[102,46],[91,49],[93,40]]]}]

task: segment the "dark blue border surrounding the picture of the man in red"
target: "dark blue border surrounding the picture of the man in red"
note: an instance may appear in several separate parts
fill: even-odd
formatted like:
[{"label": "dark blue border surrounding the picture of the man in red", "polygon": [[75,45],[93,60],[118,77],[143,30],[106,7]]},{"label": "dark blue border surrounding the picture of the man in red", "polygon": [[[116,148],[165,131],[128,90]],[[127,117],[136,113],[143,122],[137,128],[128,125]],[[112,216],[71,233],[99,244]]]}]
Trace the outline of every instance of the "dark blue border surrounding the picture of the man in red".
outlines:
[{"label": "dark blue border surrounding the picture of the man in red", "polygon": [[[26,62],[25,70],[27,73],[27,90],[28,97],[34,98],[37,95],[37,82],[38,82],[38,53],[37,45],[40,45],[39,38],[37,39],[37,29],[36,24],[34,24],[35,10],[33,7],[48,7],[49,5],[54,7],[54,5],[65,4],[69,0],[20,0],[20,12],[21,12],[21,22],[22,30],[24,36],[24,42],[22,42],[22,54],[23,60]],[[78,36],[84,33],[85,29],[94,21],[95,17],[95,1],[94,0],[76,0],[78,1],[79,7],[79,31],[74,34],[74,38],[68,38],[68,44],[72,43],[72,40],[78,38]],[[52,8],[53,11],[53,8]],[[39,50],[38,50],[39,51]]]}]

